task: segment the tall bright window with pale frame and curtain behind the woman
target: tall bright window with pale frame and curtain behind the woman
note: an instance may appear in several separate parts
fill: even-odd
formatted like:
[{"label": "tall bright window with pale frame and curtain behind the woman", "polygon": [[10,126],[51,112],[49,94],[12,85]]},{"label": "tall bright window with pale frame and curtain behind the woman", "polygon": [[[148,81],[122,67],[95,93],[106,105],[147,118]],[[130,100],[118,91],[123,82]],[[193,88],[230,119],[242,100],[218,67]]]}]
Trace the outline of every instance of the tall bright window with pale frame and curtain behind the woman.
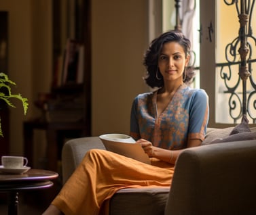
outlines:
[{"label": "tall bright window with pale frame and curtain behind the woman", "polygon": [[246,59],[251,76],[246,80],[246,114],[249,121],[255,123],[256,39],[251,35],[251,32],[256,32],[256,22],[252,18],[255,0],[234,3],[231,0],[162,1],[163,31],[175,27],[175,3],[183,4],[179,9],[182,30],[194,45],[195,66],[200,66],[200,78],[199,75],[196,77],[194,87],[205,89],[209,95],[209,126],[238,123],[242,117],[242,80],[238,75],[241,62],[238,53],[241,1],[249,14],[249,28],[246,29],[249,53]]}]

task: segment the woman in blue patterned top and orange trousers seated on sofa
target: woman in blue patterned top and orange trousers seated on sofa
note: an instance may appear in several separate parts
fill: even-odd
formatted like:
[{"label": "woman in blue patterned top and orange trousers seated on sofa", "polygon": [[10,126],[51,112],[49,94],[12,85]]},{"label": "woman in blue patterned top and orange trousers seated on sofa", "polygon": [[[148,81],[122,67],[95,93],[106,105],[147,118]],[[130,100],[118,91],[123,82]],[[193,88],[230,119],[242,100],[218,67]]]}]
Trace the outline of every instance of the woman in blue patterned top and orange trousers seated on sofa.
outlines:
[{"label": "woman in blue patterned top and orange trousers seated on sofa", "polygon": [[170,186],[179,154],[202,143],[208,122],[206,93],[185,85],[193,74],[187,69],[189,49],[190,41],[172,30],[145,53],[145,82],[158,90],[134,99],[130,135],[151,165],[110,151],[88,151],[44,214],[101,214],[119,189]]}]

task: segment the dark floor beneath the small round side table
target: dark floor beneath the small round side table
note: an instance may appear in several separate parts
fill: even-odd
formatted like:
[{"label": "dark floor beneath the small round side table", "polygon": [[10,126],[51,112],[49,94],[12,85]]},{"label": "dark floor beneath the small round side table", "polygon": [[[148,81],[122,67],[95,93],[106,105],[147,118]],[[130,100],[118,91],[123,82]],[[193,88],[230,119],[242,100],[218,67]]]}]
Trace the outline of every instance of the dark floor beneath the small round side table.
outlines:
[{"label": "dark floor beneath the small round side table", "polygon": [[[50,205],[58,193],[58,188],[50,187],[38,191],[22,191],[18,195],[18,215],[39,215]],[[0,193],[0,214],[8,214],[7,193]]]}]

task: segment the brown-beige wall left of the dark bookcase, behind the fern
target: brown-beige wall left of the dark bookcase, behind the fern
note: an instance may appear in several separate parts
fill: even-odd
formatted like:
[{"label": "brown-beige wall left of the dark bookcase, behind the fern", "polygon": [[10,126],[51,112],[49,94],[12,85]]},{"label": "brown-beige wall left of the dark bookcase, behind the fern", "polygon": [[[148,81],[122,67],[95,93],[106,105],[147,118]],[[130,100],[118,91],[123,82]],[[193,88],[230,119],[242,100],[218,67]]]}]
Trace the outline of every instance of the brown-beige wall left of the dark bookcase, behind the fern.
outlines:
[{"label": "brown-beige wall left of the dark bookcase, behind the fern", "polygon": [[22,122],[39,114],[33,105],[37,93],[50,90],[51,0],[5,0],[0,9],[9,12],[8,74],[18,86],[13,93],[29,99],[26,116],[18,102],[10,109],[10,153],[21,155]]}]

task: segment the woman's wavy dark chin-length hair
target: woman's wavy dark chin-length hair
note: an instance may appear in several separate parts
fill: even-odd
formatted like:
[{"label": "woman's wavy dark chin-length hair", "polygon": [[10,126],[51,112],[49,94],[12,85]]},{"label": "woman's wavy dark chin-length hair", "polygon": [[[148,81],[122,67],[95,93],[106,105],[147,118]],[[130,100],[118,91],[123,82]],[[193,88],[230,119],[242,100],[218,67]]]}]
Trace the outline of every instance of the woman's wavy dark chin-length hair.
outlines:
[{"label": "woman's wavy dark chin-length hair", "polygon": [[[185,52],[185,56],[189,55],[191,43],[189,39],[187,39],[183,33],[179,30],[169,30],[168,32],[164,32],[159,37],[154,39],[149,48],[145,52],[143,65],[147,70],[147,74],[144,77],[145,82],[149,87],[163,87],[164,80],[162,74],[158,73],[158,78],[156,78],[156,72],[158,70],[158,57],[162,51],[162,47],[164,43],[177,42],[179,45],[183,47]],[[190,82],[194,77],[195,72],[192,66],[187,66],[185,68],[186,72],[183,72],[183,82]]]}]

